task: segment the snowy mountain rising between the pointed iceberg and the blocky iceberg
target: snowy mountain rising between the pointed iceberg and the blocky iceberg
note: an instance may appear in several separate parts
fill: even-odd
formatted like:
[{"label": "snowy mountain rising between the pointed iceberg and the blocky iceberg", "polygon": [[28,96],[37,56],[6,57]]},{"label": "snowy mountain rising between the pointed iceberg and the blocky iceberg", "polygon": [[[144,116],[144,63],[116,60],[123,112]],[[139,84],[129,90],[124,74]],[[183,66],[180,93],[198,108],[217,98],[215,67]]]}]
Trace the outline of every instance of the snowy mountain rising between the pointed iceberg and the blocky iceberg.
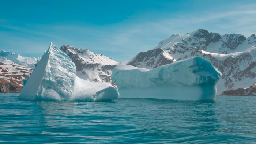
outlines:
[{"label": "snowy mountain rising between the pointed iceberg and the blocky iceberg", "polygon": [[109,83],[116,87],[111,80],[112,69],[118,62],[102,54],[90,52],[88,49],[74,48],[70,45],[60,47],[76,65],[76,75],[91,82]]}]

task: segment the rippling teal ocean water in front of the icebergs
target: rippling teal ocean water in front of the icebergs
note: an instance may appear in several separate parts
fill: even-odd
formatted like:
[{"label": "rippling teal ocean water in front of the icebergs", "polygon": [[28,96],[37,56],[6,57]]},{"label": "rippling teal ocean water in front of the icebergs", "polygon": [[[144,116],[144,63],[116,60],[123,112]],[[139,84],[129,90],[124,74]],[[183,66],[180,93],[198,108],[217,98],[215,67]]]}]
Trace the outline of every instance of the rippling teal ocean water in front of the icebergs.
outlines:
[{"label": "rippling teal ocean water in front of the icebergs", "polygon": [[256,143],[256,97],[29,102],[0,94],[0,143]]}]

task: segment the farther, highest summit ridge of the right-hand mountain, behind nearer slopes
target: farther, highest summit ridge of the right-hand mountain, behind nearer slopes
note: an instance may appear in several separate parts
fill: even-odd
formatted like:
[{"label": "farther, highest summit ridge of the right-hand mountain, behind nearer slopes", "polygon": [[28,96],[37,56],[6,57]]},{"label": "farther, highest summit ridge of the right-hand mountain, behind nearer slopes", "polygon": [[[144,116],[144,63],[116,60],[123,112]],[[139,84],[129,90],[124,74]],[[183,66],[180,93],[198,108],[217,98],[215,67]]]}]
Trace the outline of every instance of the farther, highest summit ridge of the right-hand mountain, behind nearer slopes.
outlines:
[{"label": "farther, highest summit ridge of the right-hand mountain, behind nearer slopes", "polygon": [[[241,34],[220,35],[218,33],[209,33],[207,30],[198,29],[184,36],[179,34],[172,35],[161,41],[155,49],[162,48],[163,50],[169,50],[173,53],[180,50],[182,53],[184,47],[197,47],[211,53],[228,54],[244,51],[254,45],[256,45],[255,34],[246,38]],[[175,59],[177,59],[177,57]]]}]

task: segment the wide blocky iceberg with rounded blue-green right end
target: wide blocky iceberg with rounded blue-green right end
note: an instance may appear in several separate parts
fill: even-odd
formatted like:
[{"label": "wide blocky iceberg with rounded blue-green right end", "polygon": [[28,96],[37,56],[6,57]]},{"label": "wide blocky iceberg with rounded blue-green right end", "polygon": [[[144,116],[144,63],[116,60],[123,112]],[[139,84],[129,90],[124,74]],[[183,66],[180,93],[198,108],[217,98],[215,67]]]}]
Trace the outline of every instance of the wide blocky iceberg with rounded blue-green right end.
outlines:
[{"label": "wide blocky iceberg with rounded blue-green right end", "polygon": [[121,98],[213,100],[221,71],[202,57],[155,69],[117,65],[112,72]]}]

